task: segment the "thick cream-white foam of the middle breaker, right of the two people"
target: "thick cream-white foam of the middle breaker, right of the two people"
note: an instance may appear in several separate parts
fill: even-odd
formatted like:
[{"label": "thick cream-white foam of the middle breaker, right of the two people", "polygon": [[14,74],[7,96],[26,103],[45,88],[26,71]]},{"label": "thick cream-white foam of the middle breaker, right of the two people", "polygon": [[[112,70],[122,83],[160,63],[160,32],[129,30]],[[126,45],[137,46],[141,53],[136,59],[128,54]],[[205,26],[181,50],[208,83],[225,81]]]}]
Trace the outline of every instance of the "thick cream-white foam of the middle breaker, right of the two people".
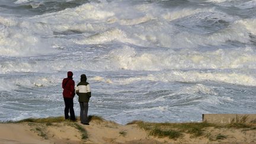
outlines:
[{"label": "thick cream-white foam of the middle breaker, right of the two people", "polygon": [[[242,55],[241,55],[242,53]],[[173,50],[139,53],[132,47],[112,50],[110,59],[120,69],[162,71],[165,69],[256,68],[254,49],[219,49],[209,52]]]}]

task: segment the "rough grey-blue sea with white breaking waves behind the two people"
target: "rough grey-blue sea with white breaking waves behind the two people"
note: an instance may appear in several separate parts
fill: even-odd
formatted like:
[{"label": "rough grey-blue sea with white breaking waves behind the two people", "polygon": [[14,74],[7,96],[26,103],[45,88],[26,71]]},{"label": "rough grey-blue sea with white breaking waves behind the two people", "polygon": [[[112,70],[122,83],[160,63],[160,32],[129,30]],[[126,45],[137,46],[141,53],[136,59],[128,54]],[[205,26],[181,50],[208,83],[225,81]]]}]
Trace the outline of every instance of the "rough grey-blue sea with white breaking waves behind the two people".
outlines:
[{"label": "rough grey-blue sea with white breaking waves behind the two people", "polygon": [[[256,0],[0,0],[0,121],[89,115],[126,124],[256,113]],[[78,96],[74,98],[79,116]]]}]

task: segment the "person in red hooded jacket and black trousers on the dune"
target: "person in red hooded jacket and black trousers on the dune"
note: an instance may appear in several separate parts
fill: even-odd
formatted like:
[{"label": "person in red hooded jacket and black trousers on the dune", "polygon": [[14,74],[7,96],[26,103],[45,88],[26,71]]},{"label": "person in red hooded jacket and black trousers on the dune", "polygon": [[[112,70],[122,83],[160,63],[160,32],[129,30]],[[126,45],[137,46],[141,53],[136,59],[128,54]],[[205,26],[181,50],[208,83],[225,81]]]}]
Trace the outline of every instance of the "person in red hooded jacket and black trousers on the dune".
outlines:
[{"label": "person in red hooded jacket and black trousers on the dune", "polygon": [[69,119],[69,112],[70,112],[70,119],[75,121],[75,112],[73,110],[73,97],[75,96],[75,81],[73,81],[73,73],[71,71],[68,72],[68,78],[64,78],[62,81],[62,88],[63,88],[63,98],[65,102],[65,119]]}]

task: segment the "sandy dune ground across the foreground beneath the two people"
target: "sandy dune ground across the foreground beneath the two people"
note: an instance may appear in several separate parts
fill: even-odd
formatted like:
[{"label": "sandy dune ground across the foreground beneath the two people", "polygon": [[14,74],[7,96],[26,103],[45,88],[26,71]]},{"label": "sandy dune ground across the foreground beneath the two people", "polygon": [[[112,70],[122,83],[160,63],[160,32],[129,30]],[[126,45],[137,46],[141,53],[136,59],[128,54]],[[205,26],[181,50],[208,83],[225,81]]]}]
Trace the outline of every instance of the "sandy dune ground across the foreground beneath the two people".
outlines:
[{"label": "sandy dune ground across the foreground beneath the two people", "polygon": [[[178,125],[188,126],[185,124],[191,123]],[[89,126],[78,121],[65,121],[63,117],[28,119],[1,123],[0,143],[256,143],[255,124],[240,127],[208,125],[201,135],[184,131],[179,137],[171,137],[171,133],[156,136],[151,129],[142,128],[153,126],[153,129],[158,129],[169,125],[143,121],[121,125],[95,116],[92,116]]]}]

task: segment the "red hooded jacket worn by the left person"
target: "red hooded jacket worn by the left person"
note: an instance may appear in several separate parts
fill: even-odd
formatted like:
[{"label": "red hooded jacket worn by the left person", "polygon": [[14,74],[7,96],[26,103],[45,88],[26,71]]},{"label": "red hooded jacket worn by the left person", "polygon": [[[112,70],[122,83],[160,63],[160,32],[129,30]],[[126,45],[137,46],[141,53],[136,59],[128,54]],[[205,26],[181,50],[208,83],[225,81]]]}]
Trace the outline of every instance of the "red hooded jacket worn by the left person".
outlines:
[{"label": "red hooded jacket worn by the left person", "polygon": [[72,79],[73,73],[68,72],[68,78],[63,79],[62,88],[63,88],[63,97],[73,98],[75,96],[75,81]]}]

